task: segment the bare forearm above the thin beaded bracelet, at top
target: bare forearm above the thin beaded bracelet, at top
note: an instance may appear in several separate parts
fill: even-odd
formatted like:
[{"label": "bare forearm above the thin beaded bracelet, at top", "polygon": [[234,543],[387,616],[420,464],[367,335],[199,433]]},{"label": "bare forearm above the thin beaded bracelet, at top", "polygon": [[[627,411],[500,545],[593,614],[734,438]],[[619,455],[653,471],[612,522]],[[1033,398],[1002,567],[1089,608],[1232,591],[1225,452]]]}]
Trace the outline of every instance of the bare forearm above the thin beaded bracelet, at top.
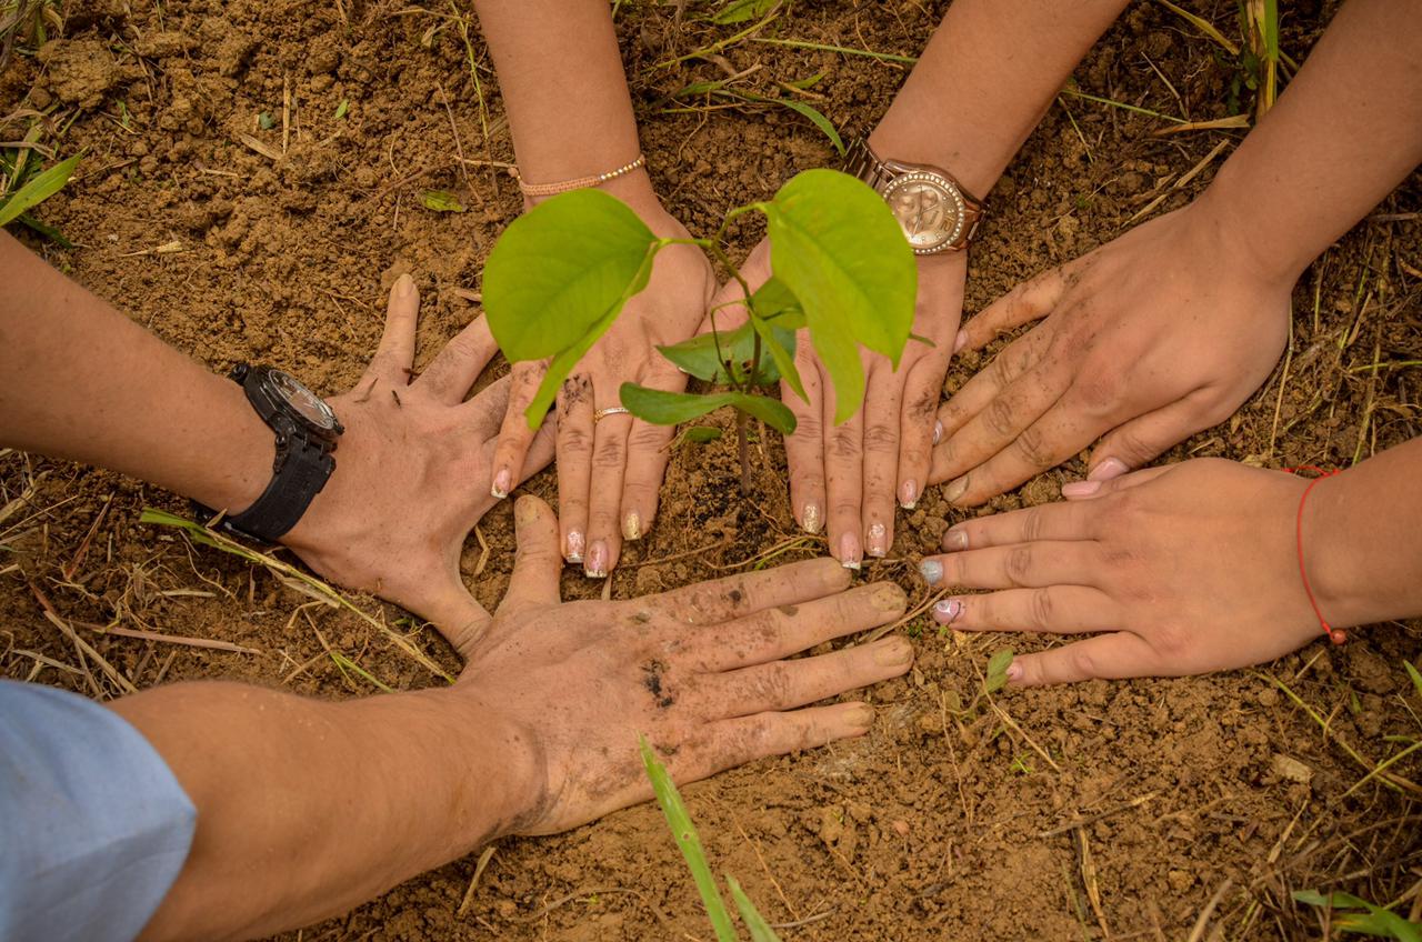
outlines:
[{"label": "bare forearm above the thin beaded bracelet, at top", "polygon": [[[519,174],[533,184],[602,174],[640,152],[637,121],[606,0],[476,0],[499,75]],[[624,199],[648,196],[646,174]],[[631,192],[636,191],[636,192]]]}]

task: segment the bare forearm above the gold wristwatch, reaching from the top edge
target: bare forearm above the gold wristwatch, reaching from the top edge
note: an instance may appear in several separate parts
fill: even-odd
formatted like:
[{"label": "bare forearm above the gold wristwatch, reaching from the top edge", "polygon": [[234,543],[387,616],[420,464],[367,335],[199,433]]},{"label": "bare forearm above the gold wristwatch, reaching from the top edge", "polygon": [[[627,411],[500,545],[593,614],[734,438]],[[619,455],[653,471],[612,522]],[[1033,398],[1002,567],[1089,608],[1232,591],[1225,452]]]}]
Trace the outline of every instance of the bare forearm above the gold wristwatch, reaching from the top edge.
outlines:
[{"label": "bare forearm above the gold wristwatch, reaching from the top edge", "polygon": [[985,196],[1126,0],[957,0],[869,142]]}]

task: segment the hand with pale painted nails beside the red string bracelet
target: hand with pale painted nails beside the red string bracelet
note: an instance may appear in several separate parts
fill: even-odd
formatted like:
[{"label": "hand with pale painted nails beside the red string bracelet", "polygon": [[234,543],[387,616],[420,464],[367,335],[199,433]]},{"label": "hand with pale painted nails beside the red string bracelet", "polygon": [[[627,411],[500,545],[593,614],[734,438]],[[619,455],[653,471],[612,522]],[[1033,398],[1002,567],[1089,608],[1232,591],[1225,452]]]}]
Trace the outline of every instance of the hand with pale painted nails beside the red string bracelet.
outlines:
[{"label": "hand with pale painted nails beside the red string bracelet", "polygon": [[1020,655],[1008,679],[1022,686],[1273,660],[1321,636],[1295,555],[1307,485],[1214,458],[1068,484],[1064,504],[950,528],[951,552],[924,559],[924,578],[993,592],[948,596],[933,618],[960,630],[1099,632]]}]

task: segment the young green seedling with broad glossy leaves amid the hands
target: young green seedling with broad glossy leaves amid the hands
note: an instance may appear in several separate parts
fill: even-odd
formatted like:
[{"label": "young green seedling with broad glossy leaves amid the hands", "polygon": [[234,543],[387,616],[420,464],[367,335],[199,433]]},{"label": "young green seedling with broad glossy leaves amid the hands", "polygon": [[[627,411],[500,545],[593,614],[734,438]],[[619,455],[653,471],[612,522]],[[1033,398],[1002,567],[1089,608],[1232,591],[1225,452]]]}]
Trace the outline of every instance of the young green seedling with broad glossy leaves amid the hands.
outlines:
[{"label": "young green seedling with broad glossy leaves amid the hands", "polygon": [[[765,216],[775,270],[754,292],[721,246],[729,225],[751,212]],[[543,421],[577,360],[647,286],[657,252],[670,245],[700,246],[731,273],[741,286],[735,306],[745,322],[721,327],[720,312],[711,310],[710,333],[658,347],[684,373],[720,391],[668,393],[624,383],[621,404],[657,425],[735,408],[744,494],[751,485],[749,418],[785,435],[795,431],[795,416],[766,391],[784,380],[806,400],[795,369],[796,332],[808,332],[829,376],[836,424],[863,401],[860,347],[889,357],[897,369],[913,327],[913,250],[873,189],[829,169],[805,171],[772,199],[732,209],[710,239],[658,238],[599,189],[553,196],[503,232],[483,270],[489,329],[503,354],[510,361],[549,360],[526,411],[530,427]]]}]

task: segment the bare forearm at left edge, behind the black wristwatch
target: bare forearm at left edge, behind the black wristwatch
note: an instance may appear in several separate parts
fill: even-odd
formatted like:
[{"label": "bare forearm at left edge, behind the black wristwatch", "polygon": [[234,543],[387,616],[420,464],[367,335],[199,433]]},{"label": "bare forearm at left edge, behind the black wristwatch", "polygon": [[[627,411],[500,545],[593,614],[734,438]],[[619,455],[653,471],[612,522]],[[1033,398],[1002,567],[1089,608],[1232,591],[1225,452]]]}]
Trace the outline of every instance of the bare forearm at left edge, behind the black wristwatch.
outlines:
[{"label": "bare forearm at left edge, behind the black wristwatch", "polygon": [[242,388],[0,233],[0,443],[242,509],[272,477]]}]

